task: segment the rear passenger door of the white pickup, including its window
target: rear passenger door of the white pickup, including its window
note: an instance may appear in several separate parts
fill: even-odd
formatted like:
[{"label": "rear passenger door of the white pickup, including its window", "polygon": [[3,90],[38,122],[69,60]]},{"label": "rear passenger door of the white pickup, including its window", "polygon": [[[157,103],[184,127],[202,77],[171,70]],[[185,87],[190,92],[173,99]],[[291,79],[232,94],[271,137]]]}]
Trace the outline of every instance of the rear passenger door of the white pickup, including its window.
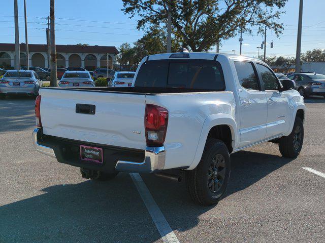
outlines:
[{"label": "rear passenger door of the white pickup, including its window", "polygon": [[255,66],[250,61],[234,61],[238,76],[241,120],[240,145],[245,147],[262,141],[266,135],[267,102],[258,82]]}]

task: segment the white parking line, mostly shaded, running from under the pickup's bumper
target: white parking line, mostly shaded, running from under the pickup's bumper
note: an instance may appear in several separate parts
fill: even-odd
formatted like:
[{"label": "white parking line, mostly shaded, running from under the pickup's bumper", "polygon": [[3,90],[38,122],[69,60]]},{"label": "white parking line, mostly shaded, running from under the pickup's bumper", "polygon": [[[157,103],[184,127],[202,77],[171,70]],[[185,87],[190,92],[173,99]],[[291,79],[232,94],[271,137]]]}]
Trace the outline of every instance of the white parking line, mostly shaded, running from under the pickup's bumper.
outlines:
[{"label": "white parking line, mostly shaded, running from under the pickup's bumper", "polygon": [[152,221],[156,225],[163,241],[165,243],[179,243],[174,231],[165,219],[163,213],[161,213],[160,209],[158,208],[156,202],[150,194],[149,189],[147,188],[146,184],[144,184],[144,181],[142,180],[139,173],[129,174],[134,184],[136,185],[139,194],[152,218]]}]

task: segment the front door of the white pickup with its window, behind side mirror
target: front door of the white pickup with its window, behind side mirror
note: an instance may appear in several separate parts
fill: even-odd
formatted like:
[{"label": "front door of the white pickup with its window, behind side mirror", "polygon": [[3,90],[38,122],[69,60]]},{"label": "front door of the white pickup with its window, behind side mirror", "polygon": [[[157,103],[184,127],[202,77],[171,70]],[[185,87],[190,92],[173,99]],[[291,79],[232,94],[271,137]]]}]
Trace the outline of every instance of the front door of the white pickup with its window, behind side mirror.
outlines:
[{"label": "front door of the white pickup with its window, behind side mirror", "polygon": [[281,135],[289,129],[288,94],[280,92],[280,82],[271,69],[257,63],[258,74],[265,88],[268,106],[266,138]]}]

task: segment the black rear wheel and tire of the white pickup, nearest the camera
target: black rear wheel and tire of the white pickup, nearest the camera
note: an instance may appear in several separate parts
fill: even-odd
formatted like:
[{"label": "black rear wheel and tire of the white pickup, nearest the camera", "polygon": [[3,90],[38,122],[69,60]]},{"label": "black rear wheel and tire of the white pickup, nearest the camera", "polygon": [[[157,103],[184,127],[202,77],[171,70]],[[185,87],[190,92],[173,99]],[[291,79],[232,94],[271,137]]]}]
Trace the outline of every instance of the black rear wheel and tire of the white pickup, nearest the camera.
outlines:
[{"label": "black rear wheel and tire of the white pickup, nearest the camera", "polygon": [[228,148],[221,140],[208,139],[197,168],[186,171],[187,190],[192,200],[204,206],[217,204],[228,185],[230,170]]}]

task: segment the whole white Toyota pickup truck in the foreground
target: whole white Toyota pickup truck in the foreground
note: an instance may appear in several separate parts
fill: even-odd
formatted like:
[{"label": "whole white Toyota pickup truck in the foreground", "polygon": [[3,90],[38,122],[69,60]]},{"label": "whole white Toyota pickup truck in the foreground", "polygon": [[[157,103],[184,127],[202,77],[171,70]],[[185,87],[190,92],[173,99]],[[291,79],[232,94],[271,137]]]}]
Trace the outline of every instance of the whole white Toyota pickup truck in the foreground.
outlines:
[{"label": "whole white Toyota pickup truck in the foreground", "polygon": [[229,182],[230,153],[265,141],[278,143],[284,157],[300,153],[304,98],[284,82],[249,57],[151,55],[132,87],[40,89],[34,145],[80,167],[84,178],[173,177],[175,169],[194,201],[216,204]]}]

